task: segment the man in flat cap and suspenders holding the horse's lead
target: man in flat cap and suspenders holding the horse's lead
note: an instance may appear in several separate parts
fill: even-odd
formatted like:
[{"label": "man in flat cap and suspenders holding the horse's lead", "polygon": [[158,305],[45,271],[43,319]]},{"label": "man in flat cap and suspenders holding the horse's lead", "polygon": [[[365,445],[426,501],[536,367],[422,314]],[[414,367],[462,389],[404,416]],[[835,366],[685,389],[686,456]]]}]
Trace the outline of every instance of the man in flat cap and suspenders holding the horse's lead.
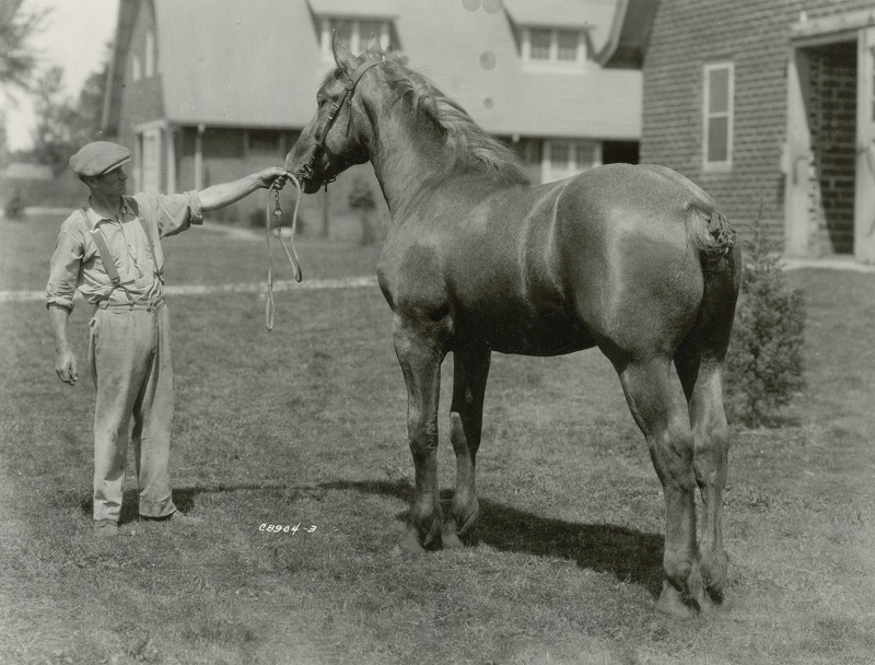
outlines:
[{"label": "man in flat cap and suspenders holding the horse's lead", "polygon": [[174,505],[167,470],[173,365],[160,238],[200,224],[203,212],[287,179],[284,170],[271,167],[199,192],[126,196],[122,166],[129,161],[128,149],[106,141],[89,143],[70,158],[91,196],[61,225],[46,287],[55,372],[65,383],[78,377],[67,340],[75,289],[95,306],[89,365],[97,388],[94,527],[100,536],[118,533],[131,416],[141,520],[195,520]]}]

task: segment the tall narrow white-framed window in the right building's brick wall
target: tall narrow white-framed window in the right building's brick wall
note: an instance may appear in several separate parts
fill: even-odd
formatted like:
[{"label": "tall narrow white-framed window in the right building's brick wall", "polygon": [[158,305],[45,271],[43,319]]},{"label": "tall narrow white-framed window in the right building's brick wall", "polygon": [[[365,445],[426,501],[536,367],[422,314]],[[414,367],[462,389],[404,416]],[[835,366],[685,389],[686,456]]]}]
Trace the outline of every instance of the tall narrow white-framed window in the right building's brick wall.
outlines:
[{"label": "tall narrow white-framed window in the right building's brick wall", "polygon": [[728,171],[732,167],[735,67],[732,62],[705,65],[702,73],[702,167]]}]

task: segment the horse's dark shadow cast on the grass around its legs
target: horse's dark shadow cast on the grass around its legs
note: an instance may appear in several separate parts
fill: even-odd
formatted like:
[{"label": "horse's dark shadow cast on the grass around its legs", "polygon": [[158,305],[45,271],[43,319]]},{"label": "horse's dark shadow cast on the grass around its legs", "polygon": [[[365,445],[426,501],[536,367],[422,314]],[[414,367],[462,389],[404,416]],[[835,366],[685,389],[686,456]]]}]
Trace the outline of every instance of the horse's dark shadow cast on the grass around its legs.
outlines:
[{"label": "horse's dark shadow cast on the grass around its legs", "polygon": [[[354,490],[393,497],[410,502],[412,488],[407,481],[327,482],[326,490]],[[442,503],[452,491],[441,494]],[[663,580],[665,538],[610,524],[579,524],[551,520],[535,513],[480,498],[476,539],[501,551],[575,561],[581,568],[610,573],[621,582],[632,582],[658,597]],[[444,506],[444,514],[447,514]],[[405,522],[408,512],[397,515]]]}]

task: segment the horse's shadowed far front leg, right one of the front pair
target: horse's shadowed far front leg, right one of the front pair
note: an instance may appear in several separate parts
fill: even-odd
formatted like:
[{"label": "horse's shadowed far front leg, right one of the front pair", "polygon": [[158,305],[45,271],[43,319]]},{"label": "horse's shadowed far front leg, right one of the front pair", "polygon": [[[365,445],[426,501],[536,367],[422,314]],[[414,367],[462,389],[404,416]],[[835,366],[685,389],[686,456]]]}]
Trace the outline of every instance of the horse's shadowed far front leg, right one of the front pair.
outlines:
[{"label": "horse's shadowed far front leg, right one of the front pair", "polygon": [[452,517],[444,524],[444,547],[458,547],[459,536],[470,537],[479,514],[475,464],[483,428],[483,394],[491,354],[486,346],[467,345],[456,348],[453,357],[450,441],[456,454],[456,491]]}]

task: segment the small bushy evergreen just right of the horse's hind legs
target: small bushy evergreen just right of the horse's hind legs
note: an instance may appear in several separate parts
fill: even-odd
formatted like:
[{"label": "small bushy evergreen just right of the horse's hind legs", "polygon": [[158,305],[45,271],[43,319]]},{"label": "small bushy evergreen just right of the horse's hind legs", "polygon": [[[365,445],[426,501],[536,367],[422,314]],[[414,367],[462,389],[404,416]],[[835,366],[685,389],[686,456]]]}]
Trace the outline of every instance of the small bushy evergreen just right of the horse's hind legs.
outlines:
[{"label": "small bushy evergreen just right of the horse's hind legs", "polygon": [[726,357],[726,410],[747,427],[773,422],[805,385],[805,302],[782,271],[775,243],[757,220]]}]

